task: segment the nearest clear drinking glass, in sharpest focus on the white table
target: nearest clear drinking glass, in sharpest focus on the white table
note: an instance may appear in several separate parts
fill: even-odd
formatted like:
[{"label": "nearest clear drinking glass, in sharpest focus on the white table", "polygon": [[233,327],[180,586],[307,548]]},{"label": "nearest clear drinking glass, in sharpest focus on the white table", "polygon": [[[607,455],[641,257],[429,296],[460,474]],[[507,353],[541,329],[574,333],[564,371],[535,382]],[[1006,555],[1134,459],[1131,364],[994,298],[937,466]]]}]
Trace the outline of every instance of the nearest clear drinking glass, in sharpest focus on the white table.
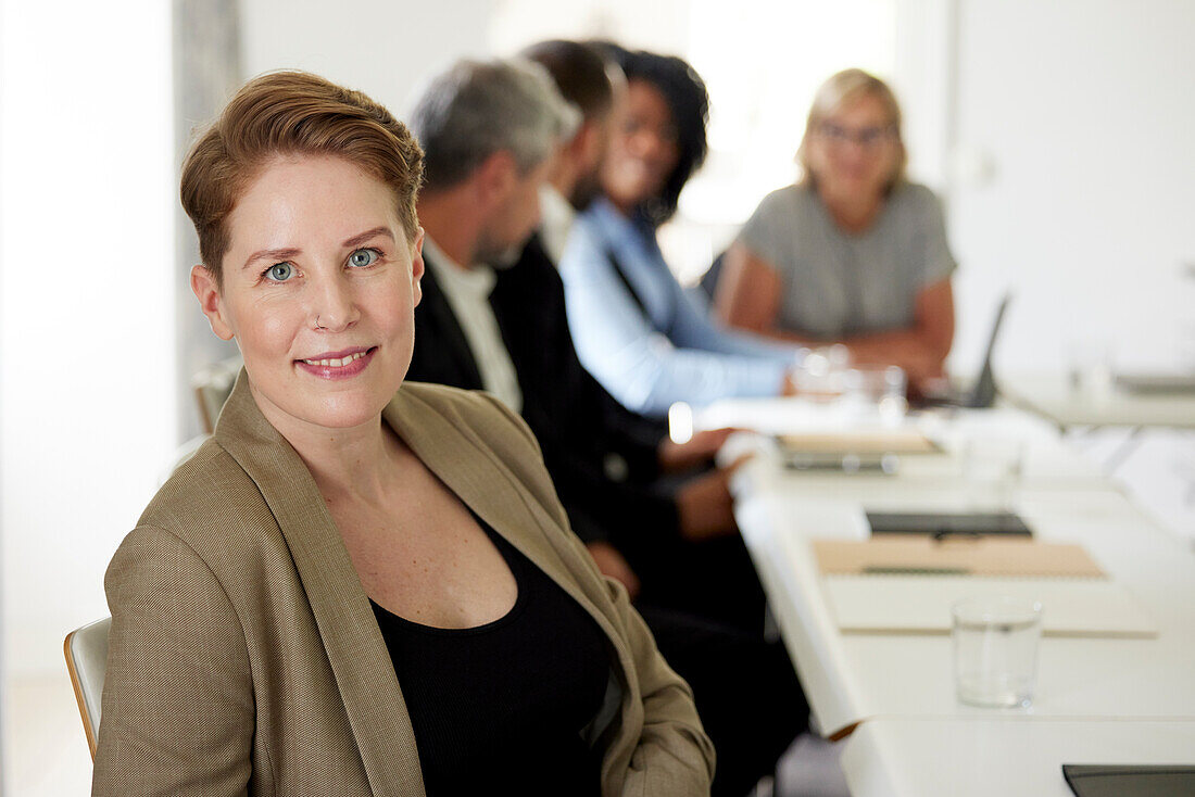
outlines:
[{"label": "nearest clear drinking glass, in sharpest focus on the white table", "polygon": [[1037,679],[1042,605],[1019,597],[972,597],[951,608],[955,692],[974,706],[1028,706]]}]

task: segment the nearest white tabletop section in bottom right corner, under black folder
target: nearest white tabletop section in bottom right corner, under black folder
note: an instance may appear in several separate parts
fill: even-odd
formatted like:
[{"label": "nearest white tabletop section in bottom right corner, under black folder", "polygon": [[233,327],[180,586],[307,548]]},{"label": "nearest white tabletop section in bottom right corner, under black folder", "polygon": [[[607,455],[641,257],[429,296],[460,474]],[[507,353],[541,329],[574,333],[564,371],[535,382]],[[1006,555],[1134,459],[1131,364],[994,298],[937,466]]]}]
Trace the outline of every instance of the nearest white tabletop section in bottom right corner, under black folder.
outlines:
[{"label": "nearest white tabletop section in bottom right corner, under black folder", "polygon": [[1073,797],[1064,764],[1195,764],[1195,721],[869,719],[840,765],[856,797]]}]

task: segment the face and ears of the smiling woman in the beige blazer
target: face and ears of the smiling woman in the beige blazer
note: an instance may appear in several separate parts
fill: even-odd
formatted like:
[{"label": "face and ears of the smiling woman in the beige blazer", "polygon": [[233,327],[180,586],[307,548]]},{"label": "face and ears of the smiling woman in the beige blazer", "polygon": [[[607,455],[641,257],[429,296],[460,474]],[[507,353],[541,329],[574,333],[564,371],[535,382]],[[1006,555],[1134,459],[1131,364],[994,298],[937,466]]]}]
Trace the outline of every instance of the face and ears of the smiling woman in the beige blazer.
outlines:
[{"label": "face and ears of the smiling woman in the beige blazer", "polygon": [[277,157],[227,223],[228,271],[197,265],[191,286],[265,417],[284,435],[376,421],[410,364],[423,276],[392,190],[342,158]]}]

